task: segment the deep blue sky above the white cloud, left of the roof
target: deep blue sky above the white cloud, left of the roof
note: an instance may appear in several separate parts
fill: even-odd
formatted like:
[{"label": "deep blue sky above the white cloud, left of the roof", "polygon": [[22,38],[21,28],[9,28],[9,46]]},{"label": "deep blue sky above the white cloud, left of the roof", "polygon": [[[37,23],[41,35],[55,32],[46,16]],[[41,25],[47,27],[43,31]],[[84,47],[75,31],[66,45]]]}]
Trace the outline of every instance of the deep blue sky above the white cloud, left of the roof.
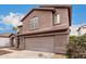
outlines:
[{"label": "deep blue sky above the white cloud, left of the roof", "polygon": [[30,9],[36,8],[36,4],[1,4],[0,14],[13,13],[27,13]]}]

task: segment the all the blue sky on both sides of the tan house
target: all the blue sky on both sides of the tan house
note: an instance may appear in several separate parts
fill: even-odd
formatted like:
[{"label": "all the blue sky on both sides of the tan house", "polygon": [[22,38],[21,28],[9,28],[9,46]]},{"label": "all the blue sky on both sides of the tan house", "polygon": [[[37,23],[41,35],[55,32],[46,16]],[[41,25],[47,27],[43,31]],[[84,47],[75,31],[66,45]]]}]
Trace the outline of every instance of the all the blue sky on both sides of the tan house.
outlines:
[{"label": "all the blue sky on both sides of the tan house", "polygon": [[[11,24],[4,24],[3,21],[10,18],[13,14],[26,14],[36,4],[1,4],[0,5],[0,33],[14,33]],[[86,24],[86,5],[72,5],[72,25]],[[2,16],[5,17],[2,20]],[[15,16],[15,15],[14,15]],[[10,20],[11,21],[11,20]]]}]

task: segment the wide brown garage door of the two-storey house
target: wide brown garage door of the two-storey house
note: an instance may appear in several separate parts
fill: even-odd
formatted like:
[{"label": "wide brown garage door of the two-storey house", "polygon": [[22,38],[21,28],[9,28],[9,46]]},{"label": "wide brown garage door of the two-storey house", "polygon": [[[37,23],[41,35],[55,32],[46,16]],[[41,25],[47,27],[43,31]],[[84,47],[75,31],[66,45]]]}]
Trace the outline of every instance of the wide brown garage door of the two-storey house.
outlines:
[{"label": "wide brown garage door of the two-storey house", "polygon": [[25,38],[25,49],[41,52],[53,52],[53,37]]}]

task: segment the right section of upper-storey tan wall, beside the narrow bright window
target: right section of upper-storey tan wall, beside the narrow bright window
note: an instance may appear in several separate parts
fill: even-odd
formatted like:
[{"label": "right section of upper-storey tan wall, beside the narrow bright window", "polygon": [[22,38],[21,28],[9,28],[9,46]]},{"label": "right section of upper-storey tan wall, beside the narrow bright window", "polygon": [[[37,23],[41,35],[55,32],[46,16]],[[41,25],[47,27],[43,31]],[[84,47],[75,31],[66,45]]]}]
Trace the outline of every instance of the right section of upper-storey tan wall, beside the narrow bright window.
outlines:
[{"label": "right section of upper-storey tan wall, beside the narrow bright window", "polygon": [[60,15],[60,24],[59,24],[60,26],[64,25],[64,24],[66,26],[70,26],[70,23],[69,23],[69,10],[67,9],[56,9],[56,13],[54,14],[59,14]]}]

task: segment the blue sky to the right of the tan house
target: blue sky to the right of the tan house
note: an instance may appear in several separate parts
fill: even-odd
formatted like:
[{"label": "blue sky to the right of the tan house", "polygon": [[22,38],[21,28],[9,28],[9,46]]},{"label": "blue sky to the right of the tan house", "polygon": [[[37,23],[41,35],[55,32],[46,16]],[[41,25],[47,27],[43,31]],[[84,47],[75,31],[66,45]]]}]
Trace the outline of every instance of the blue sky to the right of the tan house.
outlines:
[{"label": "blue sky to the right of the tan house", "polygon": [[72,7],[72,24],[86,24],[86,4],[74,4]]}]

